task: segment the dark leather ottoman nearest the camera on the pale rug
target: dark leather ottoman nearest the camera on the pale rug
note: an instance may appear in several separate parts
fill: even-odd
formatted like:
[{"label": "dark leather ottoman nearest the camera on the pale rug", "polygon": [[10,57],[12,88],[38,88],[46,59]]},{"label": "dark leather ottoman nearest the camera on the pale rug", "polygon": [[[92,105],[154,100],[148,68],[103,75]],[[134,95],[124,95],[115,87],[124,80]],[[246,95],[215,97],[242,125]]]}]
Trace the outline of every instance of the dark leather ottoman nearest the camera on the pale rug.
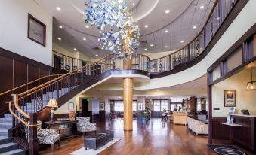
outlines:
[{"label": "dark leather ottoman nearest the camera on the pale rug", "polygon": [[88,135],[85,137],[85,150],[87,150],[88,148],[93,148],[94,150],[97,150],[97,148],[102,147],[105,144],[105,133],[97,133],[95,135]]}]

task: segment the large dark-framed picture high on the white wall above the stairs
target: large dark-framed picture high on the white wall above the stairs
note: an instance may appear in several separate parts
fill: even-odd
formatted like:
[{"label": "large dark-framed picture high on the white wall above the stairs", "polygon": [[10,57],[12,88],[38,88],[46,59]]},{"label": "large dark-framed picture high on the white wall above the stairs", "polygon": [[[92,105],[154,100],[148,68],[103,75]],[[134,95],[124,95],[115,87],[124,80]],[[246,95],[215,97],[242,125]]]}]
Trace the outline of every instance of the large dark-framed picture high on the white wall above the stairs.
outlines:
[{"label": "large dark-framed picture high on the white wall above the stairs", "polygon": [[46,26],[44,23],[33,17],[28,16],[28,34],[27,37],[45,47]]}]

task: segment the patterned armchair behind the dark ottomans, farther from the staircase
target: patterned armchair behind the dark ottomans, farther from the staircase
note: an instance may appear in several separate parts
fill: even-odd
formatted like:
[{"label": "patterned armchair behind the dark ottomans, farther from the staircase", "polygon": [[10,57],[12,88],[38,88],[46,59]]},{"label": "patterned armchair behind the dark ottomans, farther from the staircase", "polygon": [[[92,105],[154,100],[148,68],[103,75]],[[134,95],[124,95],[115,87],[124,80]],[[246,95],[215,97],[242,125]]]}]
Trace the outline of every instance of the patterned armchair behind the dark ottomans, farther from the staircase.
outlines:
[{"label": "patterned armchair behind the dark ottomans, farther from the staircase", "polygon": [[76,123],[77,130],[83,135],[85,132],[97,132],[96,123],[90,123],[90,117],[76,117],[76,120],[79,120]]}]

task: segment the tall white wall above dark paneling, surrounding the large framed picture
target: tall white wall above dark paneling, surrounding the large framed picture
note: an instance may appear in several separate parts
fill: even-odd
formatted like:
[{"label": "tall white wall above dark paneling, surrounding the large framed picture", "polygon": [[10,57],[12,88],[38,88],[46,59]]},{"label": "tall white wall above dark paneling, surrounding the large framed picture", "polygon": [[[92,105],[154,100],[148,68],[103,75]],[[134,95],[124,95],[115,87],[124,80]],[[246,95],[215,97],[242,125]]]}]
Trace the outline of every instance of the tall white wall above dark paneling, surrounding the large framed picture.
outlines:
[{"label": "tall white wall above dark paneling, surrounding the large framed picture", "polygon": [[[46,25],[46,47],[27,38],[28,13]],[[51,65],[52,15],[32,0],[2,0],[0,47]]]}]

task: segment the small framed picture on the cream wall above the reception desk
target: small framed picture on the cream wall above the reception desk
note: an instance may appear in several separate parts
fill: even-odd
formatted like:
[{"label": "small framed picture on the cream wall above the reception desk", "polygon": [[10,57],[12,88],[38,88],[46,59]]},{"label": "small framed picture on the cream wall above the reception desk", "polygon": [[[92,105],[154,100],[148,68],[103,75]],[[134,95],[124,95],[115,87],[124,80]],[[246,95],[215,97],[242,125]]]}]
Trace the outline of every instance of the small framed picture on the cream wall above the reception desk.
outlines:
[{"label": "small framed picture on the cream wall above the reception desk", "polygon": [[236,90],[224,90],[224,107],[236,107]]}]

